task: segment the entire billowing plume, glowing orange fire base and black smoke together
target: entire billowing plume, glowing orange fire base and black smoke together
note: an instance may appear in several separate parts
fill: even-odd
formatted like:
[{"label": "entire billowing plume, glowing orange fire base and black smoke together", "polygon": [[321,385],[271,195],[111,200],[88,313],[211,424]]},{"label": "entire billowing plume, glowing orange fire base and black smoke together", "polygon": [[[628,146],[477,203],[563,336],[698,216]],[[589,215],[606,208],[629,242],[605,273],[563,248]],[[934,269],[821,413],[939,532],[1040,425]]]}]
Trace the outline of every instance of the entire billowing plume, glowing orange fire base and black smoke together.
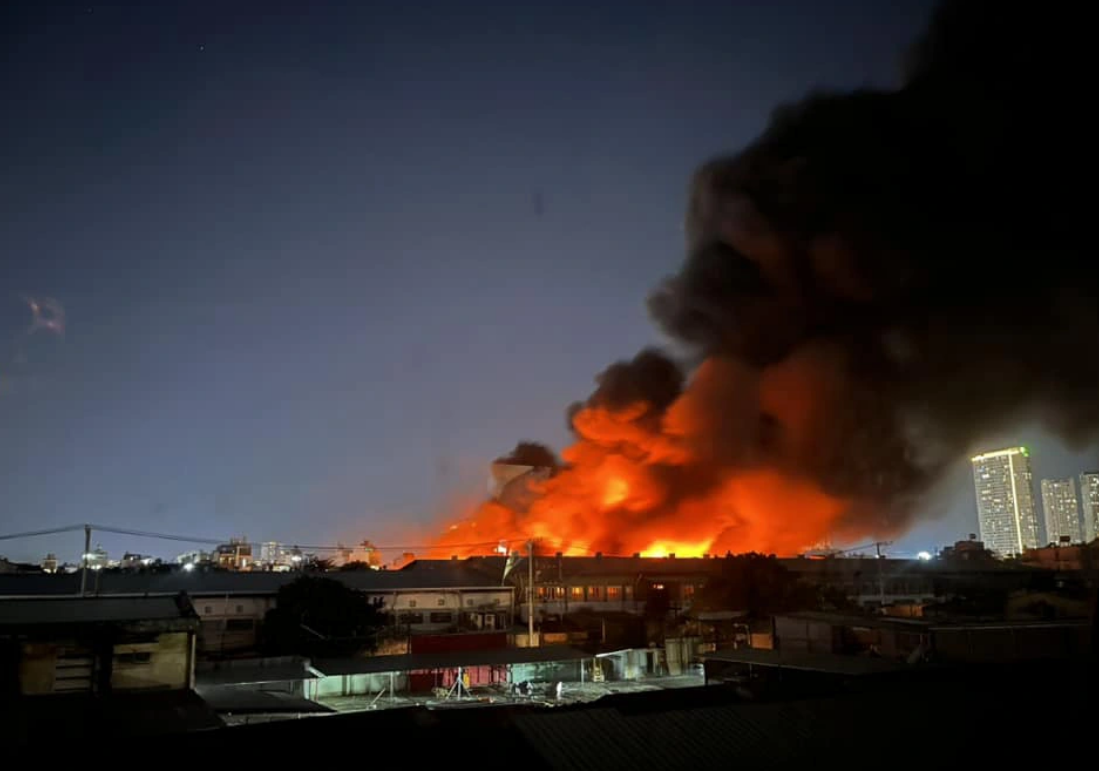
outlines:
[{"label": "entire billowing plume, glowing orange fire base and black smoke together", "polygon": [[566,470],[471,526],[788,552],[901,530],[1012,422],[1092,436],[1089,48],[1057,11],[944,5],[900,88],[812,94],[699,169],[687,259],[650,301],[687,366],[608,368],[570,410]]}]

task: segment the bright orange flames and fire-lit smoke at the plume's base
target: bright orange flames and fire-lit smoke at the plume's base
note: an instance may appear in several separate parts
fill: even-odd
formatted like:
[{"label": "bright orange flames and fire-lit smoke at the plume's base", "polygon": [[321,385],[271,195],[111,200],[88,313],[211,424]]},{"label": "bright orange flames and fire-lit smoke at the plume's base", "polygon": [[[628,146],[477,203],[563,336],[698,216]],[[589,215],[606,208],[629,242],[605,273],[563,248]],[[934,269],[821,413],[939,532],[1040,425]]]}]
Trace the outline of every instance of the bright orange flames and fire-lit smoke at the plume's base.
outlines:
[{"label": "bright orange flames and fire-lit smoke at the plume's base", "polygon": [[[501,545],[523,550],[529,539],[540,551],[570,556],[790,555],[862,535],[844,532],[851,502],[799,474],[789,459],[763,454],[755,429],[740,422],[761,402],[774,403],[778,420],[791,424],[781,449],[795,459],[802,448],[811,451],[806,426],[823,405],[797,375],[751,379],[728,362],[708,361],[662,407],[606,403],[597,392],[573,415],[577,440],[562,454],[564,468],[550,478],[508,474],[491,500],[451,525],[437,555],[492,554]],[[718,401],[730,382],[742,388],[752,412]],[[761,388],[777,392],[758,394]]]}]

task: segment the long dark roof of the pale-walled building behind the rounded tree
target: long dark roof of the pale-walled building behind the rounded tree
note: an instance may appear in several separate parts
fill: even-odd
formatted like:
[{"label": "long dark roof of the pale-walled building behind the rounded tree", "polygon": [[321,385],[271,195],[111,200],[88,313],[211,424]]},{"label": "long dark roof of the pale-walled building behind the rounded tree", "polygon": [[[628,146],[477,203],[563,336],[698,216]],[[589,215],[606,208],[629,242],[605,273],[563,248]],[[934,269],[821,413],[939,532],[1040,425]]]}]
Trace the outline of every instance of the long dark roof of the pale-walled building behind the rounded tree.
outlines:
[{"label": "long dark roof of the pale-walled building behind the rounded tree", "polygon": [[[448,569],[431,571],[362,570],[329,573],[245,573],[231,571],[176,570],[170,573],[113,573],[103,572],[88,577],[88,592],[100,596],[110,594],[178,594],[191,596],[219,594],[275,594],[284,584],[301,576],[315,576],[340,581],[351,589],[364,592],[393,592],[429,589],[502,589],[510,586],[492,583],[484,573],[456,563]],[[45,596],[78,594],[79,573],[0,574],[0,596]]]}]

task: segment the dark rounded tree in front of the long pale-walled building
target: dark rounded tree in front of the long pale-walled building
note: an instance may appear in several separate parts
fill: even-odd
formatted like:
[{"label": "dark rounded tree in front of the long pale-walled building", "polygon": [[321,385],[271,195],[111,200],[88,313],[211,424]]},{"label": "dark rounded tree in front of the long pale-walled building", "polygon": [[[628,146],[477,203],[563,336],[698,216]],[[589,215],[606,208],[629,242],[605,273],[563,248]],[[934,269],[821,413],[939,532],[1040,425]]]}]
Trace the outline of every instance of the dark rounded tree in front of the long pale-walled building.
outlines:
[{"label": "dark rounded tree in front of the long pale-walled building", "polygon": [[385,623],[380,607],[340,581],[302,576],[281,586],[264,619],[274,655],[345,656],[374,649]]}]

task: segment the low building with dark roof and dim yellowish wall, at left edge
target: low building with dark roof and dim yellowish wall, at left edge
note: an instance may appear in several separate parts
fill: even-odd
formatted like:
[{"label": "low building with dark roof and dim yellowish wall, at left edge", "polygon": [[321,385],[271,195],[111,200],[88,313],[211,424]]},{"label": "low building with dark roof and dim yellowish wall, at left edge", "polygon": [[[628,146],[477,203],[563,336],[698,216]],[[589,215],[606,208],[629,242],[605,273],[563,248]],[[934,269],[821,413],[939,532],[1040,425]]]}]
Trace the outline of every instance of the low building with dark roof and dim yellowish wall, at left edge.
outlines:
[{"label": "low building with dark roof and dim yellowish wall, at left edge", "polygon": [[8,695],[188,690],[199,617],[186,595],[0,600]]}]

